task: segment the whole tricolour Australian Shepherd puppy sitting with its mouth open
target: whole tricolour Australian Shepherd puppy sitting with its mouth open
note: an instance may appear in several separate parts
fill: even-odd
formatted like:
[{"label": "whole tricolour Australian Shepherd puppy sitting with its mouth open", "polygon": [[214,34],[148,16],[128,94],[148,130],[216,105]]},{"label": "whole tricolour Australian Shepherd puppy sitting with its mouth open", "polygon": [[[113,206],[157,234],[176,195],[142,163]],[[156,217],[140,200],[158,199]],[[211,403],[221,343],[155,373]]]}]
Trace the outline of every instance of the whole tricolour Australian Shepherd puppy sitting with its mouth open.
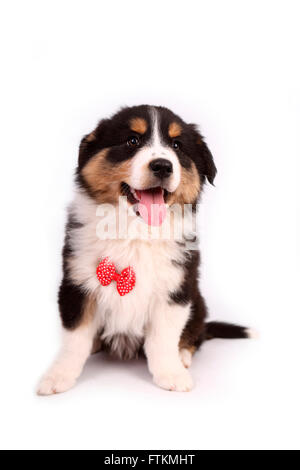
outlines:
[{"label": "whole tricolour Australian Shepherd puppy sitting with its mouth open", "polygon": [[82,139],[58,296],[63,344],[40,395],[69,390],[102,350],[145,355],[156,385],[188,391],[204,340],[248,337],[205,322],[195,222],[215,176],[196,126],[163,107],[122,109]]}]

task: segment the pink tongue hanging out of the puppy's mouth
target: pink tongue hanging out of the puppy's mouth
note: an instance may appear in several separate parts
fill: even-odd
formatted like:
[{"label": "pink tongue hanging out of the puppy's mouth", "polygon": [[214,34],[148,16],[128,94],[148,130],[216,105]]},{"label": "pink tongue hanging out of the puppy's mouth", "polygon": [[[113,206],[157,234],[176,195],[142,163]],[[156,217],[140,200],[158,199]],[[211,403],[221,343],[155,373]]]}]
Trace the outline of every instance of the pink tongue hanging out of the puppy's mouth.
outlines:
[{"label": "pink tongue hanging out of the puppy's mouth", "polygon": [[159,226],[165,220],[167,207],[162,188],[137,191],[139,198],[139,213],[148,225]]}]

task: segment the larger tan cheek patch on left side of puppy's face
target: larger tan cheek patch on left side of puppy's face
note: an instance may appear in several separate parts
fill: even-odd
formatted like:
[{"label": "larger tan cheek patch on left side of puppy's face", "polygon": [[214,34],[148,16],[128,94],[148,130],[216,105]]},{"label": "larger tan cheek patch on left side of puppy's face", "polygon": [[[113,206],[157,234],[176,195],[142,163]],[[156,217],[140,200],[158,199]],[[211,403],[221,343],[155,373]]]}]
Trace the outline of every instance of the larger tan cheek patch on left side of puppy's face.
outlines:
[{"label": "larger tan cheek patch on left side of puppy's face", "polygon": [[82,169],[82,176],[99,203],[114,204],[120,196],[120,184],[130,175],[131,162],[112,165],[106,160],[109,149],[101,150]]}]

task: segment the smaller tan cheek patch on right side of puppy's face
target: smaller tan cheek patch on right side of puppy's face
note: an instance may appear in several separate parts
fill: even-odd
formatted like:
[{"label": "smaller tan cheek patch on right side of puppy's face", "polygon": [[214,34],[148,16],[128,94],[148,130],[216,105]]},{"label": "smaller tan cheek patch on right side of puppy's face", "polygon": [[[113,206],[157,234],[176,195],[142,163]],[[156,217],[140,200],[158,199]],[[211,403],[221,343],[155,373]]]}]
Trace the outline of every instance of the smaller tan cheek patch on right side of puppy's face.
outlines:
[{"label": "smaller tan cheek patch on right side of puppy's face", "polygon": [[169,205],[172,204],[192,204],[196,201],[201,184],[199,174],[194,162],[191,168],[181,169],[181,181],[176,191],[171,194]]}]

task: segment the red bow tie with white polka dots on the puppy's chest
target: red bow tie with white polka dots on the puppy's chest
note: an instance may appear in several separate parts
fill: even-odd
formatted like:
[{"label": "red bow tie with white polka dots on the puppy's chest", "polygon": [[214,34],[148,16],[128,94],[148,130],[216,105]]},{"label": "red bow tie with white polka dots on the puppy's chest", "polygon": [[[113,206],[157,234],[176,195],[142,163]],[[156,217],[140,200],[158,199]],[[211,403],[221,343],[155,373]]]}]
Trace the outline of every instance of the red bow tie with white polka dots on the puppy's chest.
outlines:
[{"label": "red bow tie with white polka dots on the puppy's chest", "polygon": [[135,286],[135,272],[131,266],[118,274],[115,265],[104,258],[97,267],[97,278],[102,286],[109,286],[112,281],[117,283],[117,291],[121,296],[128,294]]}]

